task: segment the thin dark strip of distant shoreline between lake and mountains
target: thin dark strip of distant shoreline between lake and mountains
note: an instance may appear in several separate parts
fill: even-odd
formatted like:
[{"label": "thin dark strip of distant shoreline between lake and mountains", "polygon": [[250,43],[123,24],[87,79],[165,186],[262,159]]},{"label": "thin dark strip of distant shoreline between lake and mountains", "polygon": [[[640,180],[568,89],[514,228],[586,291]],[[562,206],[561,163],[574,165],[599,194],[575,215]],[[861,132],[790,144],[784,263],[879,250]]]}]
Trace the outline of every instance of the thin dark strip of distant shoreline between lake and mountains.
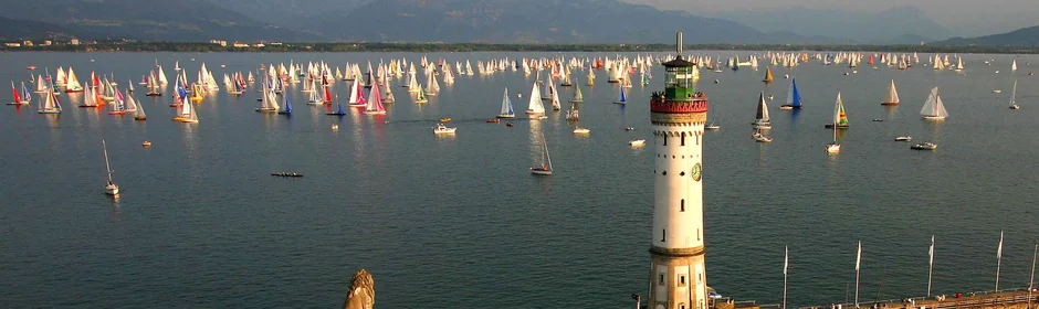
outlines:
[{"label": "thin dark strip of distant shoreline between lake and mountains", "polygon": [[[370,53],[370,52],[673,52],[672,44],[490,44],[490,43],[274,43],[264,46],[221,46],[193,42],[98,42],[81,45],[3,46],[4,52],[190,52],[190,53]],[[686,44],[686,51],[796,51],[1037,54],[1037,47],[848,45],[848,44]]]}]

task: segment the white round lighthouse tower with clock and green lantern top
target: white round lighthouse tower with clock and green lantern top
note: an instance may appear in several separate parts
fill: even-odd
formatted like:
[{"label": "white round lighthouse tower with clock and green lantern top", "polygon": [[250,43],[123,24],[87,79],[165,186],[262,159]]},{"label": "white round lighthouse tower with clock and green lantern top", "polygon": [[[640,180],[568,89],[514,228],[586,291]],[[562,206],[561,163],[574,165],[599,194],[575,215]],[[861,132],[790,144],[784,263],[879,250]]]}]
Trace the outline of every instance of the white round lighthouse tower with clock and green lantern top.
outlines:
[{"label": "white round lighthouse tower with clock and green lantern top", "polygon": [[653,93],[650,121],[655,146],[649,308],[706,309],[703,231],[703,127],[707,97],[693,84],[694,63],[663,63],[664,90]]}]

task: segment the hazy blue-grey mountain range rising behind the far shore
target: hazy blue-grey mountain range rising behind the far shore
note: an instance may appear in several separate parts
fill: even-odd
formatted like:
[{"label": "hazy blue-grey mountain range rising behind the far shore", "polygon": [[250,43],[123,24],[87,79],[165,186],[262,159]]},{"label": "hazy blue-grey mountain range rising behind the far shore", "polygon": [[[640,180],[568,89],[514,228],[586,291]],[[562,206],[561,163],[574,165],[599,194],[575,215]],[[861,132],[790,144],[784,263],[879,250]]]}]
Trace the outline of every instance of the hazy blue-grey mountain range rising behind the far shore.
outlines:
[{"label": "hazy blue-grey mountain range rising behind the far shore", "polygon": [[[0,38],[145,41],[916,44],[951,36],[913,7],[856,13],[794,7],[701,17],[618,0],[8,1]],[[1028,29],[943,44],[1036,45]],[[1019,38],[1020,36],[1020,38]]]}]

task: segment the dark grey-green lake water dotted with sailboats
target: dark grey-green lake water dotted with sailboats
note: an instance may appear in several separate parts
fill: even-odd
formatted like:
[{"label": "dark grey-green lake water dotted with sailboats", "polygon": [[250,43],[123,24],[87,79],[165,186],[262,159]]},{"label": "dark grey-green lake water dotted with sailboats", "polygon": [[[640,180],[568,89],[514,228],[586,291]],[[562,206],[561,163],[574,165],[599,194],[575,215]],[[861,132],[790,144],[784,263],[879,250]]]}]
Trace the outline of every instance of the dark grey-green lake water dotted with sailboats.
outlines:
[{"label": "dark grey-green lake water dotted with sailboats", "polygon": [[[174,61],[189,74],[204,62],[219,79],[290,60],[342,67],[421,55],[2,53],[0,74],[24,81],[27,65],[52,73],[73,65],[82,81],[91,71],[115,73],[126,87],[156,60],[170,79]],[[617,54],[429,57],[475,66],[558,55]],[[1015,57],[1021,70],[1011,75]],[[936,235],[935,294],[988,290],[1006,231],[1000,287],[1026,287],[1039,239],[1039,87],[1027,73],[1039,56],[965,61],[964,73],[921,63],[903,72],[863,65],[848,76],[844,66],[812,61],[796,72],[774,67],[772,85],[760,82],[764,66],[703,72],[710,121],[722,125],[704,141],[709,285],[738,300],[778,303],[789,246],[790,306],[843,301],[862,241],[862,300],[923,296]],[[797,114],[778,110],[786,73],[806,105]],[[326,107],[305,105],[300,85],[288,92],[291,117],[254,113],[250,89],[207,97],[197,125],[168,120],[171,98],[140,90],[147,121],[76,108],[82,95],[62,94],[60,116],[9,106],[0,113],[0,305],[330,308],[342,306],[350,275],[366,268],[377,308],[628,308],[649,279],[653,150],[627,141],[652,138],[647,100],[663,87],[662,66],[653,74],[650,85],[629,89],[627,106],[612,104],[617,86],[605,72],[594,88],[575,74],[585,94],[580,125],[591,129],[584,137],[558,111],[515,127],[485,124],[506,86],[516,110],[526,108],[533,76],[513,72],[458,76],[424,105],[395,79],[397,103],[385,116],[326,116]],[[1007,108],[1015,78],[1020,110]],[[891,79],[902,105],[885,108]],[[346,94],[345,85],[335,92]],[[951,114],[943,122],[919,115],[934,86]],[[759,90],[776,98],[772,143],[749,137]],[[827,156],[832,132],[822,125],[838,90],[851,128],[841,152]],[[573,89],[560,92],[565,100]],[[453,118],[455,136],[433,135],[441,117]],[[556,170],[547,178],[527,170],[541,158],[543,134]],[[893,140],[901,135],[940,147],[913,151]],[[118,201],[103,193],[102,139]],[[143,148],[144,140],[154,146]],[[270,175],[282,171],[305,177]]]}]

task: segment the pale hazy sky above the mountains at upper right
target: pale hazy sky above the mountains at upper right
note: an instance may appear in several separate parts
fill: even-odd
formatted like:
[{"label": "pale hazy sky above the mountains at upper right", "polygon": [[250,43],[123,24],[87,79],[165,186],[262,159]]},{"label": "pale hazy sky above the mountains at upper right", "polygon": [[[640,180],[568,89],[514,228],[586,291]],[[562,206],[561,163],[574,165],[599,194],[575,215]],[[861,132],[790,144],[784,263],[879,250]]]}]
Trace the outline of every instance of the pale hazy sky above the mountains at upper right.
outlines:
[{"label": "pale hazy sky above the mountains at upper right", "polygon": [[793,6],[818,9],[882,11],[914,6],[935,22],[969,35],[1007,32],[1039,25],[1039,0],[621,0],[660,9],[685,10],[710,17],[713,12],[767,10]]}]

